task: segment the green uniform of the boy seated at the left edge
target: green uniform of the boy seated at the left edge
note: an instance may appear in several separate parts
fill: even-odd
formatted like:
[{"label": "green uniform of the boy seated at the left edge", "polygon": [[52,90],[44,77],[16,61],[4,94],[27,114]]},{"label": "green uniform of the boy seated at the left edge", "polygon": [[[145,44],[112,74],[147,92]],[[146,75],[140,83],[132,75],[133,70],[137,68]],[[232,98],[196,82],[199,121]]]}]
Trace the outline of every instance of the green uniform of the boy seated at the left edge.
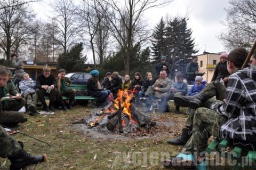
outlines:
[{"label": "green uniform of the boy seated at the left edge", "polygon": [[[4,87],[0,87],[0,98],[2,99],[6,94],[15,96],[18,91],[11,80],[8,80]],[[24,119],[24,115],[17,112],[25,105],[25,99],[12,99],[0,102],[0,124],[20,123]]]}]

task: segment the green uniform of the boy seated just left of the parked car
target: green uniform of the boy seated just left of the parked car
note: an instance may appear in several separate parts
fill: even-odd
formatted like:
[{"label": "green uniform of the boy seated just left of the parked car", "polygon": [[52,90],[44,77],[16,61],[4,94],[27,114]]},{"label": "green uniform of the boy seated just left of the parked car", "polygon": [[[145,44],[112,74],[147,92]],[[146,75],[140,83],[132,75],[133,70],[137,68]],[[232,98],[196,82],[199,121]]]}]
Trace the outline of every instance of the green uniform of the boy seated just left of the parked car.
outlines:
[{"label": "green uniform of the boy seated just left of the parked car", "polygon": [[[56,82],[58,84],[58,78],[56,78]],[[69,85],[72,83],[71,79],[68,77],[65,77],[60,82],[60,91],[58,91],[57,100],[62,103],[62,95],[69,97],[69,102],[73,102],[75,100],[76,96],[76,90],[74,89],[68,89],[67,83]]]}]

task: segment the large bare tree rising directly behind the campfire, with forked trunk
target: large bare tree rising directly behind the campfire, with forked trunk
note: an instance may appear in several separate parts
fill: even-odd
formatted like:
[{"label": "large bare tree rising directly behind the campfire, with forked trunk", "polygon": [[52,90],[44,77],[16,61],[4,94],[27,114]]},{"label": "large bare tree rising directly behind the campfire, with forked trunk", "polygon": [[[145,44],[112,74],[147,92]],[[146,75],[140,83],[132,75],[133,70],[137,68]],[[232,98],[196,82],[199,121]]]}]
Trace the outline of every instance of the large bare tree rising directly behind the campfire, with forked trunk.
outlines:
[{"label": "large bare tree rising directly behind the campfire, with forked trunk", "polygon": [[115,0],[103,0],[102,2],[109,6],[104,13],[111,25],[111,34],[124,51],[125,74],[130,74],[134,42],[143,43],[151,36],[146,30],[146,25],[143,25],[143,13],[150,8],[159,7],[172,1],[126,0],[116,2]]}]

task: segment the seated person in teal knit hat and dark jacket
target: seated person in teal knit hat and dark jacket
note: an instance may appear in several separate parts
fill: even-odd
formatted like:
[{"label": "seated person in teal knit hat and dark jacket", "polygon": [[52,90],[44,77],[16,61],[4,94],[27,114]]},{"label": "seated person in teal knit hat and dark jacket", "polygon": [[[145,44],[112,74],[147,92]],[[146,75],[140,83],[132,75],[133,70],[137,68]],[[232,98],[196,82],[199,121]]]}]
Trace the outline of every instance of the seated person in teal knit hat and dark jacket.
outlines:
[{"label": "seated person in teal knit hat and dark jacket", "polygon": [[89,95],[98,98],[97,104],[101,105],[106,101],[108,95],[111,93],[109,90],[103,90],[100,88],[100,83],[98,80],[99,71],[92,70],[90,72],[91,77],[87,82],[87,92]]}]

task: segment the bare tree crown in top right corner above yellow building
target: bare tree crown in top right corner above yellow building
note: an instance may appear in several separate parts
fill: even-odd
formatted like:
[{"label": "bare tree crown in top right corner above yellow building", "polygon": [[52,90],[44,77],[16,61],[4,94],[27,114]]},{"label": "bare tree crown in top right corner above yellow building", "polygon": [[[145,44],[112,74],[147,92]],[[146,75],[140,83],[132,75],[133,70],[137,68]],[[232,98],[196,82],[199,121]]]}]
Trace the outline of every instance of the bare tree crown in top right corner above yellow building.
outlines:
[{"label": "bare tree crown in top right corner above yellow building", "polygon": [[256,38],[256,1],[231,0],[229,3],[226,21],[222,22],[228,29],[221,33],[219,39],[228,50],[250,48]]}]

